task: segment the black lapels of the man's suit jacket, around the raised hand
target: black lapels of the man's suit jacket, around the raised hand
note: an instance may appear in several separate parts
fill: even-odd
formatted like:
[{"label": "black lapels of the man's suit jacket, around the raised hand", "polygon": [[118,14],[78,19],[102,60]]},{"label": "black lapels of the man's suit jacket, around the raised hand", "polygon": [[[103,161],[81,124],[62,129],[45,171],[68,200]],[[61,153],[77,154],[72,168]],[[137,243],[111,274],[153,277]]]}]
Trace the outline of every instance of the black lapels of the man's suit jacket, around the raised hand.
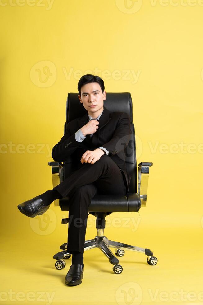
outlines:
[{"label": "black lapels of the man's suit jacket, around the raised hand", "polygon": [[[93,134],[92,138],[89,135],[86,136],[85,140],[87,140],[89,144],[92,143],[93,147],[97,146],[101,128],[104,127],[111,120],[110,114],[111,112],[106,107],[104,107],[104,110],[99,118],[99,125],[98,125],[99,128]],[[78,121],[78,129],[83,127],[88,122],[89,122],[89,117],[88,117],[88,112],[86,112],[86,114],[83,115],[83,117]]]}]

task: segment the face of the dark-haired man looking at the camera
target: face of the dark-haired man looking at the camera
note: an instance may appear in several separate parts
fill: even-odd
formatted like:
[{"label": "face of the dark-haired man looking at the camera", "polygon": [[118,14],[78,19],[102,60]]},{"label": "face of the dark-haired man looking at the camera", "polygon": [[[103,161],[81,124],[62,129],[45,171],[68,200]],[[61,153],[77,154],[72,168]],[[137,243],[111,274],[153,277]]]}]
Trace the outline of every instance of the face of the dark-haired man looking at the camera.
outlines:
[{"label": "face of the dark-haired man looking at the camera", "polygon": [[[78,95],[80,103],[88,111],[92,118],[97,118],[103,110],[106,91],[102,94],[101,87],[97,82],[91,82],[81,87],[81,95]],[[94,107],[90,107],[95,105]]]}]

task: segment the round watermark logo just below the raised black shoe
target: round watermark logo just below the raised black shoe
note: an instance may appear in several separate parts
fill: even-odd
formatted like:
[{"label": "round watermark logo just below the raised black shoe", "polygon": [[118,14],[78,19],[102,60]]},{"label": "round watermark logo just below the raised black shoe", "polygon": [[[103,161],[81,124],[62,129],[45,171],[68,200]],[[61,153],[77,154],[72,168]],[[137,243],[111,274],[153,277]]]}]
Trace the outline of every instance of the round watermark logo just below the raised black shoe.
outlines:
[{"label": "round watermark logo just below the raised black shoe", "polygon": [[44,214],[30,218],[30,227],[38,235],[49,235],[56,229],[57,218],[53,210],[48,209]]}]

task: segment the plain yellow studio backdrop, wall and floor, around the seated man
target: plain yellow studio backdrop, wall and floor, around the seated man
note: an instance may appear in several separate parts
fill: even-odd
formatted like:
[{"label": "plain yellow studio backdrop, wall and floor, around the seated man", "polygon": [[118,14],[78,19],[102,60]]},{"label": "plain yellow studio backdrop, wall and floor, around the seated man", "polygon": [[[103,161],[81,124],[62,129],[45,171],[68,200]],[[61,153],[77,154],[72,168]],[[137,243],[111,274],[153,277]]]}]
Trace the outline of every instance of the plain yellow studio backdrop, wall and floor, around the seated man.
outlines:
[{"label": "plain yellow studio backdrop, wall and floor, around the seated man", "polygon": [[[46,292],[52,304],[202,303],[201,0],[1,0],[0,12],[0,302],[11,304],[12,291],[16,303],[38,304],[42,291],[43,304]],[[126,251],[115,275],[93,249],[73,288],[64,284],[71,261],[56,270],[52,258],[67,240],[67,213],[52,204],[46,218],[30,219],[17,205],[52,189],[50,152],[63,135],[67,94],[86,73],[102,77],[106,92],[131,93],[137,163],[153,162],[147,207],[111,214],[106,236],[151,249],[158,264]],[[96,235],[89,221],[86,239]]]}]

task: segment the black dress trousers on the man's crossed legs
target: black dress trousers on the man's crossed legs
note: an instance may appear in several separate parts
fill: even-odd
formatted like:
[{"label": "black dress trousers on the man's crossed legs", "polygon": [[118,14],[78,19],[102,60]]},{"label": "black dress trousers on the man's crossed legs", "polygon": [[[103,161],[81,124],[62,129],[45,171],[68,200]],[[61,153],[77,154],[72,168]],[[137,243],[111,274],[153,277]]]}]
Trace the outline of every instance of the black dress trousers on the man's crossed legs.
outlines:
[{"label": "black dress trousers on the man's crossed legs", "polygon": [[94,164],[83,163],[63,182],[54,187],[63,197],[68,196],[68,252],[84,253],[88,206],[95,195],[126,195],[124,176],[119,166],[102,155]]}]

